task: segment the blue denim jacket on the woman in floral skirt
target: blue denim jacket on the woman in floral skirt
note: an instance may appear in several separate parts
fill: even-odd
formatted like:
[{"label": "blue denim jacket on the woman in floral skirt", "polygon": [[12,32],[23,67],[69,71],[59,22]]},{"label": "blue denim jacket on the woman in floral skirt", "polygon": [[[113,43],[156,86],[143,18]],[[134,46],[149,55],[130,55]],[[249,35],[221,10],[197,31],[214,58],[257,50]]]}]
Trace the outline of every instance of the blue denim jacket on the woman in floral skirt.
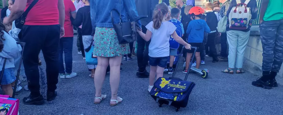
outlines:
[{"label": "blue denim jacket on the woman in floral skirt", "polygon": [[[120,3],[121,2],[121,3]],[[120,12],[122,22],[129,21],[129,18],[135,19],[138,16],[135,6],[135,0],[90,0],[90,17],[92,27],[107,27],[113,28],[110,12],[116,9]],[[114,24],[119,23],[119,14],[113,11]],[[140,21],[137,21],[139,27],[142,26]]]}]

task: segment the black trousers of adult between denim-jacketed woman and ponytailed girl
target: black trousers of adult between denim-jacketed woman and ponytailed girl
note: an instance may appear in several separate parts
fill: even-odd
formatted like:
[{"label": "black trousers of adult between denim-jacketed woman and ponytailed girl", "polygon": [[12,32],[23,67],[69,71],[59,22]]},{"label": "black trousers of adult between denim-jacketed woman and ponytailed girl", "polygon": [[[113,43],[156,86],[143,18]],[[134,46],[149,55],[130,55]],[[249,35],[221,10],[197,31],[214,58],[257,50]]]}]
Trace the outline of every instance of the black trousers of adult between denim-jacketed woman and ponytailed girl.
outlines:
[{"label": "black trousers of adult between denim-jacketed woman and ponytailed girl", "polygon": [[[147,29],[142,25],[142,32],[146,33]],[[146,70],[146,65],[148,64],[148,46],[150,40],[145,41],[142,37],[137,34],[137,66],[139,67],[139,72],[144,72]]]}]

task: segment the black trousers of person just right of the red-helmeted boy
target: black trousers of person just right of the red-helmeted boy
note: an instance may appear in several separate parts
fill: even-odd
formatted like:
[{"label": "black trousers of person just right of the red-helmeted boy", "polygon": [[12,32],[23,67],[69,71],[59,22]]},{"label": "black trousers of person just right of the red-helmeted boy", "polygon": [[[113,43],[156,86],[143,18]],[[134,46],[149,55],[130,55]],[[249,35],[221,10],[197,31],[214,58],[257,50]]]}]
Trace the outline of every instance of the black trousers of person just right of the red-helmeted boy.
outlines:
[{"label": "black trousers of person just right of the red-helmeted boy", "polygon": [[[210,33],[207,36],[207,43],[205,45],[206,55],[211,56],[214,60],[217,60],[217,51],[215,48],[215,40],[217,39],[217,33]],[[209,50],[208,50],[209,49]]]}]

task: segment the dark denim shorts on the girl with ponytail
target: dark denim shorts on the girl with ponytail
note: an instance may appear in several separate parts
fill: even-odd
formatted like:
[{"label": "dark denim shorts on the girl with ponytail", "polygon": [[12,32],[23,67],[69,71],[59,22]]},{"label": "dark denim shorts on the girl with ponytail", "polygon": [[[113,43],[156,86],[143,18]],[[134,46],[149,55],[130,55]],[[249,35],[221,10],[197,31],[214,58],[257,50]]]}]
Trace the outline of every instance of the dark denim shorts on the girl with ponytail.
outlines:
[{"label": "dark denim shorts on the girl with ponytail", "polygon": [[149,56],[149,64],[150,66],[159,66],[161,68],[167,67],[167,57],[150,57]]}]

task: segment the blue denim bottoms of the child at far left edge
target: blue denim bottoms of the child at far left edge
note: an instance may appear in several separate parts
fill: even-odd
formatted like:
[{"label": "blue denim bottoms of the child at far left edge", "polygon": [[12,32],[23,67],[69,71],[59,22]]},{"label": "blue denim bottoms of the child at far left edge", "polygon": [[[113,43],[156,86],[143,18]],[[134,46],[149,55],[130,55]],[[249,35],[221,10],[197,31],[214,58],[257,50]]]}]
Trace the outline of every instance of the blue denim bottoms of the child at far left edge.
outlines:
[{"label": "blue denim bottoms of the child at far left edge", "polygon": [[[2,71],[0,71],[1,73]],[[1,85],[8,85],[16,81],[16,76],[14,74],[13,68],[8,68],[4,70]]]}]

